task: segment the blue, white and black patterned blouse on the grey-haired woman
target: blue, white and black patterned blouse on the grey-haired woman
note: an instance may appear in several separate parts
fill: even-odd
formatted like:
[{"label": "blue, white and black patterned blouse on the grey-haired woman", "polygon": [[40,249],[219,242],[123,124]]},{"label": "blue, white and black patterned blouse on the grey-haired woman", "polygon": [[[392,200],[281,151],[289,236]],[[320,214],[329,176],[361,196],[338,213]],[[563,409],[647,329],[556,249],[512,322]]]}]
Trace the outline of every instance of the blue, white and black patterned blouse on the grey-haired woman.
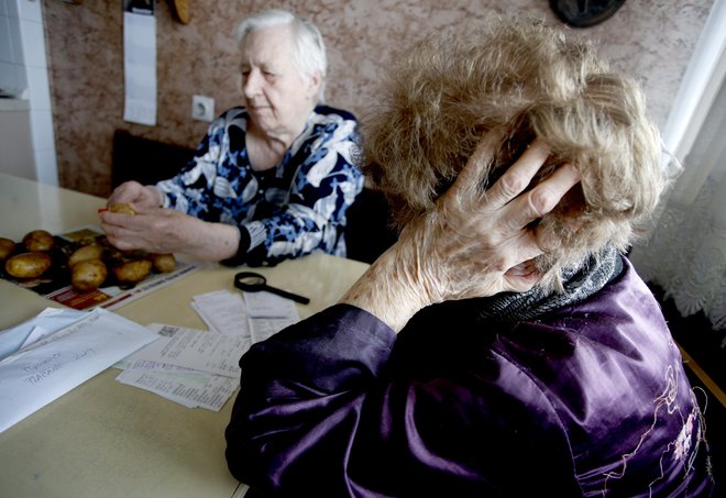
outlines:
[{"label": "blue, white and black patterned blouse on the grey-haired woman", "polygon": [[250,234],[243,262],[275,265],[315,251],[345,256],[345,210],[363,188],[354,165],[355,117],[318,106],[282,163],[254,171],[245,147],[249,114],[232,108],[209,126],[182,171],[156,187],[164,207]]}]

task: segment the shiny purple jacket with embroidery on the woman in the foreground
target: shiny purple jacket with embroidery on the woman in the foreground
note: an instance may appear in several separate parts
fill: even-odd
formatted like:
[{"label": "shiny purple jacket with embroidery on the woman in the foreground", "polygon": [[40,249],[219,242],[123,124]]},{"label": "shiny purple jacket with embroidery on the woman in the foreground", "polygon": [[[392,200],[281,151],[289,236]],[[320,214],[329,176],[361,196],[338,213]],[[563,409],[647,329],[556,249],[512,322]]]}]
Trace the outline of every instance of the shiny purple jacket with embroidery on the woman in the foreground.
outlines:
[{"label": "shiny purple jacket with embroidery on the woman in the foreground", "polygon": [[337,305],[254,345],[227,429],[254,496],[707,496],[702,417],[660,308],[626,262],[527,322],[482,299],[396,336]]}]

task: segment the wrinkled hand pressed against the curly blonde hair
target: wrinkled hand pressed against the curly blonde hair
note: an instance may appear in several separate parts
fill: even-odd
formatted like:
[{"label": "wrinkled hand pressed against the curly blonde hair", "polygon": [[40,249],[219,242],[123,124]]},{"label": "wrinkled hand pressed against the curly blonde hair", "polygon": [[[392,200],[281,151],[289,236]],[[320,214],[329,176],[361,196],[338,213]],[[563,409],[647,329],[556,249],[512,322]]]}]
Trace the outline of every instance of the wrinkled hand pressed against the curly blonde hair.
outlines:
[{"label": "wrinkled hand pressed against the curly blonde hair", "polygon": [[398,241],[351,287],[342,302],[363,308],[400,330],[419,309],[453,299],[526,291],[541,278],[531,259],[558,241],[530,223],[551,211],[580,181],[572,165],[525,192],[549,151],[536,141],[488,190],[483,171],[501,132],[480,143],[436,209],[414,220]]}]

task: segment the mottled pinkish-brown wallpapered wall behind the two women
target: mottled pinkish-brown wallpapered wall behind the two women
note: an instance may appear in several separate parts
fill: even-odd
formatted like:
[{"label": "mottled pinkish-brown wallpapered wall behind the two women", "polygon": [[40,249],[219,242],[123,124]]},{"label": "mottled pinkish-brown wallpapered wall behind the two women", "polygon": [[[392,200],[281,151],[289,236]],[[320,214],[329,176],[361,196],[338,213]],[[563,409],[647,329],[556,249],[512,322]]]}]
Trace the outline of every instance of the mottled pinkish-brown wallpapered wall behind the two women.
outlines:
[{"label": "mottled pinkish-brown wallpapered wall behind the two women", "polygon": [[[110,192],[116,129],[196,146],[208,123],[190,118],[191,96],[216,99],[217,113],[239,103],[235,22],[282,7],[312,20],[329,47],[328,102],[364,115],[392,49],[428,30],[462,30],[490,13],[532,14],[561,24],[544,0],[191,1],[191,21],[156,1],[157,125],[123,121],[120,0],[44,0],[58,175],[65,187]],[[641,80],[663,125],[713,0],[631,0],[608,21],[575,30],[596,41],[613,66]]]}]

